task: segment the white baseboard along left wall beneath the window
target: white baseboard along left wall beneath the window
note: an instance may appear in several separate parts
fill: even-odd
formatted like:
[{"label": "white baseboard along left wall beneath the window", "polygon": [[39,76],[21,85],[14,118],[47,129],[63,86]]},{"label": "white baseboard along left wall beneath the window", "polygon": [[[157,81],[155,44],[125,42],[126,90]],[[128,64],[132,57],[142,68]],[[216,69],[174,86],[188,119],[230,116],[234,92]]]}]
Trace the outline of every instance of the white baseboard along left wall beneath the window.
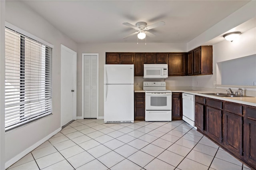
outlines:
[{"label": "white baseboard along left wall beneath the window", "polygon": [[9,166],[11,166],[12,164],[14,164],[15,162],[17,162],[18,160],[20,160],[21,158],[23,158],[24,156],[26,156],[26,154],[28,154],[29,152],[31,152],[32,150],[34,150],[35,148],[37,148],[38,146],[40,146],[41,144],[43,144],[45,141],[47,141],[48,139],[50,139],[52,136],[54,136],[55,134],[57,134],[58,132],[60,132],[61,128],[58,128],[57,130],[55,130],[54,132],[50,133],[49,135],[47,135],[46,137],[42,138],[41,140],[39,140],[38,142],[36,142],[35,144],[33,144],[32,146],[30,146],[29,148],[23,150],[22,152],[20,152],[18,155],[14,156],[12,159],[8,160],[5,163],[5,169],[7,169]]}]

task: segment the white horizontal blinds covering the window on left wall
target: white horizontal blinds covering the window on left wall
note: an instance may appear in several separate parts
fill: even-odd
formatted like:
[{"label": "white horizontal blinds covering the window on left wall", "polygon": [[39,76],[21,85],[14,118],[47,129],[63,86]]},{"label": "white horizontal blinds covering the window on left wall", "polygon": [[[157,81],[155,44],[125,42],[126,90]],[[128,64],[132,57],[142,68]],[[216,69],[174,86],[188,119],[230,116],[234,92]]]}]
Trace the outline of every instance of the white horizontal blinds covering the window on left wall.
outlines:
[{"label": "white horizontal blinds covering the window on left wall", "polygon": [[5,130],[52,114],[52,48],[5,29]]}]

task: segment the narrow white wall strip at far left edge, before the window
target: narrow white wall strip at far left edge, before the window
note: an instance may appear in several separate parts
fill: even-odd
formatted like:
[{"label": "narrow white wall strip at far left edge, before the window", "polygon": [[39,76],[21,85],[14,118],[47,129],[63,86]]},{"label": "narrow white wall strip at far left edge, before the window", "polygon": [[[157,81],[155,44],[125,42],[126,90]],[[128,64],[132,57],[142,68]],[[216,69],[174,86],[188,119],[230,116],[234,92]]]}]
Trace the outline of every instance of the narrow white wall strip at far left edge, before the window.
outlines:
[{"label": "narrow white wall strip at far left edge, before the window", "polygon": [[0,170],[4,169],[5,164],[5,131],[4,131],[4,25],[5,25],[5,1],[0,1]]}]

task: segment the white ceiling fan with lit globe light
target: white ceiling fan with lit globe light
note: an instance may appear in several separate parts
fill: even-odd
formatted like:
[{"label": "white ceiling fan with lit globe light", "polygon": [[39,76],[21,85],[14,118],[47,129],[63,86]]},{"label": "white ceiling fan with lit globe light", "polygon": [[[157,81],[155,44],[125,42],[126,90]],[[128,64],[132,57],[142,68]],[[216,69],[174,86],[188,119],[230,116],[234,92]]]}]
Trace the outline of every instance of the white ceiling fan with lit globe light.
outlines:
[{"label": "white ceiling fan with lit globe light", "polygon": [[144,38],[146,37],[146,35],[149,36],[149,37],[154,37],[154,36],[156,36],[155,34],[153,34],[153,33],[151,33],[151,32],[148,32],[148,30],[151,30],[151,29],[156,28],[156,27],[159,27],[159,26],[164,26],[164,25],[165,25],[165,22],[160,21],[160,22],[157,22],[157,23],[152,24],[152,25],[150,25],[150,26],[147,26],[147,23],[146,23],[146,22],[138,22],[138,23],[136,24],[136,26],[134,26],[134,25],[132,25],[132,24],[130,24],[130,23],[128,23],[128,22],[124,22],[123,24],[124,24],[125,26],[134,28],[135,30],[138,30],[137,32],[134,32],[134,33],[132,33],[132,34],[130,34],[130,35],[128,35],[128,36],[125,36],[123,39],[128,38],[128,37],[130,37],[130,36],[133,36],[133,35],[135,35],[135,34],[138,34],[138,35],[137,35],[138,38],[142,40],[142,39],[144,39]]}]

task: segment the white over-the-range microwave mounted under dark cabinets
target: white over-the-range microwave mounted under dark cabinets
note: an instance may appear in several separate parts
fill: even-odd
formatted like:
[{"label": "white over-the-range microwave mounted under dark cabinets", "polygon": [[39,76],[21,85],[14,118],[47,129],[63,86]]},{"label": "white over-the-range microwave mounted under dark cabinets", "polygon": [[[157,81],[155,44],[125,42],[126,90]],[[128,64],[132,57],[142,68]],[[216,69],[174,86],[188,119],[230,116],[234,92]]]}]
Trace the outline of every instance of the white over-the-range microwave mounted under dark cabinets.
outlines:
[{"label": "white over-the-range microwave mounted under dark cabinets", "polygon": [[165,79],[168,77],[168,64],[144,64],[144,79]]}]

